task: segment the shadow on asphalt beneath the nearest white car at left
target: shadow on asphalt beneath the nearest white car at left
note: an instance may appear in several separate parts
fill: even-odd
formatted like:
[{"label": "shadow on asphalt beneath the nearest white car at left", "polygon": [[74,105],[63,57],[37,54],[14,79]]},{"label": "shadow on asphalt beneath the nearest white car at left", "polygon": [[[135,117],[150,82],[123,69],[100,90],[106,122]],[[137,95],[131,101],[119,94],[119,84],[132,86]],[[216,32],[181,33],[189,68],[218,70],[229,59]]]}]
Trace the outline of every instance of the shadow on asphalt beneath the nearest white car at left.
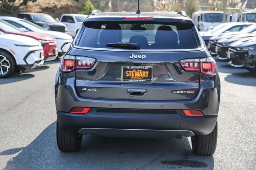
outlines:
[{"label": "shadow on asphalt beneath the nearest white car at left", "polygon": [[25,74],[14,73],[10,77],[0,79],[0,85],[4,85],[4,84],[8,84],[8,83],[14,83],[14,82],[17,82],[17,81],[30,79],[32,77],[35,77],[35,75],[29,74],[29,73],[25,73]]}]

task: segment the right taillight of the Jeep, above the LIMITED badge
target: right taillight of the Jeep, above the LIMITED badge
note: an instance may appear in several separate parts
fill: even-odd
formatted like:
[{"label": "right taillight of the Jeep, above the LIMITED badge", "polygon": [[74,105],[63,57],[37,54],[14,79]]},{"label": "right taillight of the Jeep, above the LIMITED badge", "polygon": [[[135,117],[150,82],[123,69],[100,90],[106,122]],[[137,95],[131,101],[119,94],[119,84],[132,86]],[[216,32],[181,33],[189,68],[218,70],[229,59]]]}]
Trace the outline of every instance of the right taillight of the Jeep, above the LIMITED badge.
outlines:
[{"label": "right taillight of the Jeep, above the LIMITED badge", "polygon": [[201,71],[206,75],[214,75],[216,73],[216,63],[212,57],[200,59],[183,59],[180,65],[186,71]]}]

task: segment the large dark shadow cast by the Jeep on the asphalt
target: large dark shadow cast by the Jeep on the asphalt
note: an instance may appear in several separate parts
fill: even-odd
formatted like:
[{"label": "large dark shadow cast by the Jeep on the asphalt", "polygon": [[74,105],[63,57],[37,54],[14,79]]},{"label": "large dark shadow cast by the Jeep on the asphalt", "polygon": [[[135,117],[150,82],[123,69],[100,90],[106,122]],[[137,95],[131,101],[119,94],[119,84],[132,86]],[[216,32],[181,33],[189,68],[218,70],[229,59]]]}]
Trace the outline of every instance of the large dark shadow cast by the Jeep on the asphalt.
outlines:
[{"label": "large dark shadow cast by the Jeep on the asphalt", "polygon": [[28,146],[5,150],[14,154],[4,169],[213,169],[213,156],[196,156],[188,138],[104,138],[83,136],[76,153],[60,152],[56,144],[56,122]]}]

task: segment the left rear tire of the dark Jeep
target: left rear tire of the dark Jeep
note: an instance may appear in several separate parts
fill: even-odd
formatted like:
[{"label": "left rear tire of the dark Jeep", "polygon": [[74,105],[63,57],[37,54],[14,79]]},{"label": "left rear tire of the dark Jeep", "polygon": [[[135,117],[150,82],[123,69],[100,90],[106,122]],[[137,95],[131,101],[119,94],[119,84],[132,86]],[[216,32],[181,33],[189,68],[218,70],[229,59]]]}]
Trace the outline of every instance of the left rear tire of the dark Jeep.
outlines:
[{"label": "left rear tire of the dark Jeep", "polygon": [[76,152],[81,147],[82,134],[61,128],[58,119],[56,122],[56,135],[58,148],[62,152]]}]

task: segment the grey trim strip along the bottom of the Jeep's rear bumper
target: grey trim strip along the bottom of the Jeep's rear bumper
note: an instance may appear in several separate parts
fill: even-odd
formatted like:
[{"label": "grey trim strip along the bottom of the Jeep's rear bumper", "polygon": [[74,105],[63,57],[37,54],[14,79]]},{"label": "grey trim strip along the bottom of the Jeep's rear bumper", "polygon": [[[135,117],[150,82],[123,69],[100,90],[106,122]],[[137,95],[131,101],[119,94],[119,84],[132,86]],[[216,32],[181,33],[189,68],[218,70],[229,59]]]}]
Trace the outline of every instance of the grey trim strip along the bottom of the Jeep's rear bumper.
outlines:
[{"label": "grey trim strip along the bottom of the Jeep's rear bumper", "polygon": [[176,135],[194,136],[189,130],[152,130],[152,129],[115,129],[115,128],[82,128],[78,131],[80,134],[90,134],[106,137],[138,137],[138,138],[166,138]]}]

